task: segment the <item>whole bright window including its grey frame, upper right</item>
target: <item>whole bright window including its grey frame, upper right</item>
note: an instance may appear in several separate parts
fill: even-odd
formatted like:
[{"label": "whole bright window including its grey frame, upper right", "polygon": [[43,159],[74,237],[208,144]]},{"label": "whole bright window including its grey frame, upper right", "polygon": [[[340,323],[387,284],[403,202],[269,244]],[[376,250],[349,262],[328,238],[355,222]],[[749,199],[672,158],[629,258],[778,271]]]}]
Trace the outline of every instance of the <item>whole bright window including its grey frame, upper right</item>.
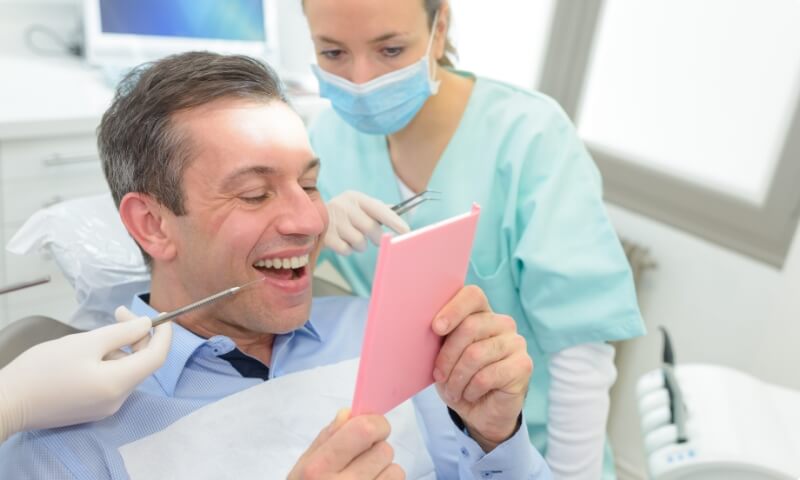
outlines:
[{"label": "whole bright window including its grey frame, upper right", "polygon": [[800,2],[559,2],[541,88],[606,197],[776,266],[800,207]]}]

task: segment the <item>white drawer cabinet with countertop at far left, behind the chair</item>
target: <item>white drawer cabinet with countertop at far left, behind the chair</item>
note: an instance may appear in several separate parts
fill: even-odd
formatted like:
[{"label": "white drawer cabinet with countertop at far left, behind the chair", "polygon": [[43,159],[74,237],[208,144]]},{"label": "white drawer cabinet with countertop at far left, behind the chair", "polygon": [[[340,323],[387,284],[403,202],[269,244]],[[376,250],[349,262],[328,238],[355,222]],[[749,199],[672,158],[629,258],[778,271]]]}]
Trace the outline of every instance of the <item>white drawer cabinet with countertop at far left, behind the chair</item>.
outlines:
[{"label": "white drawer cabinet with countertop at far left, behind the chair", "polygon": [[37,210],[108,189],[95,128],[112,91],[76,59],[0,57],[0,284],[50,283],[0,296],[0,328],[28,315],[68,320],[77,302],[53,259],[5,246]]}]

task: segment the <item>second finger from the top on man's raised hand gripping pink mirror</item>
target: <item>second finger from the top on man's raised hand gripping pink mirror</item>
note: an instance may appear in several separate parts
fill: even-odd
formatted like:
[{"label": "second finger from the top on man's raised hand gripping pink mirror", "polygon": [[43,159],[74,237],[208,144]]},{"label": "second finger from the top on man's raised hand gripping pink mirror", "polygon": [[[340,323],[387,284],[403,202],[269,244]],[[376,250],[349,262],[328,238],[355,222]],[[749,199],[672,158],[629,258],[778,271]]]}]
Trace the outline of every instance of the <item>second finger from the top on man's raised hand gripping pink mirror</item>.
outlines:
[{"label": "second finger from the top on man's raised hand gripping pink mirror", "polygon": [[459,322],[458,328],[445,338],[436,356],[433,378],[440,383],[448,380],[461,355],[470,345],[503,333],[515,333],[516,328],[514,320],[506,315],[494,313],[470,315]]}]

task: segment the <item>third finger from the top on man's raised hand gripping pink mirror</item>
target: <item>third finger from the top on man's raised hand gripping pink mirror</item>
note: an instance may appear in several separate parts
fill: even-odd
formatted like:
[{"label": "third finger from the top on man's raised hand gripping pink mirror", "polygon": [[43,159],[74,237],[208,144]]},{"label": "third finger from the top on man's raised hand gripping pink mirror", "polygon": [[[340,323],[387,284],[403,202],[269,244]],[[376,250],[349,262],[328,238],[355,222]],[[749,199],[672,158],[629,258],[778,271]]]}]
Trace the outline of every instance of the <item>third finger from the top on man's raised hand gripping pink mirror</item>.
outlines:
[{"label": "third finger from the top on man's raised hand gripping pink mirror", "polygon": [[444,384],[446,400],[453,403],[461,401],[467,384],[472,383],[477,375],[480,375],[479,384],[489,380],[484,378],[483,370],[511,355],[518,345],[516,338],[515,334],[496,335],[468,345]]}]

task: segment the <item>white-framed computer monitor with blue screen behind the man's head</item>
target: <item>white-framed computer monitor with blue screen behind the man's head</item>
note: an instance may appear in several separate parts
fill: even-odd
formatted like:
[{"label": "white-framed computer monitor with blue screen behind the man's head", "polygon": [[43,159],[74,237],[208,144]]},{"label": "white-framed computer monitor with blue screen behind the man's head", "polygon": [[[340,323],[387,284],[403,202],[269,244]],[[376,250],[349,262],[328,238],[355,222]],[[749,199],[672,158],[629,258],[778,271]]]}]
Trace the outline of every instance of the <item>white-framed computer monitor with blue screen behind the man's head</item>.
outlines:
[{"label": "white-framed computer monitor with blue screen behind the man's head", "polygon": [[86,59],[130,67],[190,50],[278,63],[279,0],[84,0]]}]

